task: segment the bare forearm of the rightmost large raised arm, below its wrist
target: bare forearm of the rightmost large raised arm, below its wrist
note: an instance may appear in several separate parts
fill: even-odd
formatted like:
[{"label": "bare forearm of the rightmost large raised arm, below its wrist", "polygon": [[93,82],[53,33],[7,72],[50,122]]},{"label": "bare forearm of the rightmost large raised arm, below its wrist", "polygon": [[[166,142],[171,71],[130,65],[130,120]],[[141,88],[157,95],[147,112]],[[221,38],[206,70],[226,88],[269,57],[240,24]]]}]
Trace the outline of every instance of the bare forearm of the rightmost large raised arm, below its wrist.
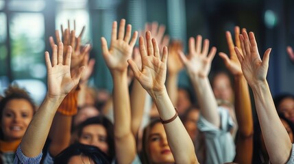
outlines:
[{"label": "bare forearm of the rightmost large raised arm, below its wrist", "polygon": [[286,163],[291,155],[292,144],[275,110],[267,81],[256,84],[252,91],[269,159],[271,163]]}]

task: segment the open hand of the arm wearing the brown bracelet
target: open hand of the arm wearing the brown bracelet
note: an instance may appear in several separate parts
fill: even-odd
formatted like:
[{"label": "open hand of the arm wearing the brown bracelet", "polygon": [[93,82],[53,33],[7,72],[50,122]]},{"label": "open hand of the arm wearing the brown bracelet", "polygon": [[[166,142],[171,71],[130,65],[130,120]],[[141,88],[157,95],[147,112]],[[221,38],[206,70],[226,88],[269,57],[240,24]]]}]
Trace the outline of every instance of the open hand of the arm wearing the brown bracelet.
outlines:
[{"label": "open hand of the arm wearing the brown bracelet", "polygon": [[150,31],[146,32],[147,51],[142,36],[139,38],[140,55],[142,59],[142,70],[132,59],[127,60],[130,64],[134,76],[152,96],[154,92],[165,90],[164,82],[167,75],[167,46],[164,46],[162,59],[156,39],[151,39]]}]

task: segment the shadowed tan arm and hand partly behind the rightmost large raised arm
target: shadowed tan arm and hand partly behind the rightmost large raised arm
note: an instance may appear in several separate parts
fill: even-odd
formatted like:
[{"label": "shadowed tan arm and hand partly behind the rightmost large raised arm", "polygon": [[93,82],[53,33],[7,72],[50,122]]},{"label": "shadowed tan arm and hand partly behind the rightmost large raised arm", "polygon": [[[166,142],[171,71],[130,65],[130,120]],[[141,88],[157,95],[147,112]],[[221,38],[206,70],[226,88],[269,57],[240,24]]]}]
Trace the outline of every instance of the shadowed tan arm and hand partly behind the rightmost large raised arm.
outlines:
[{"label": "shadowed tan arm and hand partly behind the rightmost large raised arm", "polygon": [[[238,49],[241,49],[239,39],[240,28],[235,27],[234,32],[236,46]],[[234,75],[235,111],[238,122],[238,138],[236,140],[236,156],[234,161],[236,163],[251,163],[254,128],[248,84],[243,76],[241,64],[234,51],[234,42],[230,31],[226,31],[225,37],[227,38],[230,50],[230,58],[225,53],[219,53],[219,56],[223,58],[225,66]]]}]

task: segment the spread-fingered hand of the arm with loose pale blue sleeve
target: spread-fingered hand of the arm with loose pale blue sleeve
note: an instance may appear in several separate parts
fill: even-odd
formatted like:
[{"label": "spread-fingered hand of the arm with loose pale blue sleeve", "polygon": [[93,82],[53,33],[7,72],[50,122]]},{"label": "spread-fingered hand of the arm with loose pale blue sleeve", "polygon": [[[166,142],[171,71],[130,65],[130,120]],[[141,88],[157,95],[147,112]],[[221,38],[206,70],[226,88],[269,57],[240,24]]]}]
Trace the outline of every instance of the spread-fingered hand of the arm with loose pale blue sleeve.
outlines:
[{"label": "spread-fingered hand of the arm with loose pale blue sleeve", "polygon": [[202,37],[197,36],[196,40],[196,44],[194,38],[190,38],[189,40],[188,57],[186,57],[182,51],[179,51],[179,55],[189,74],[193,74],[198,77],[207,77],[210,72],[212,59],[215,57],[215,53],[217,52],[217,48],[212,47],[208,53],[209,40],[204,40],[202,50]]}]

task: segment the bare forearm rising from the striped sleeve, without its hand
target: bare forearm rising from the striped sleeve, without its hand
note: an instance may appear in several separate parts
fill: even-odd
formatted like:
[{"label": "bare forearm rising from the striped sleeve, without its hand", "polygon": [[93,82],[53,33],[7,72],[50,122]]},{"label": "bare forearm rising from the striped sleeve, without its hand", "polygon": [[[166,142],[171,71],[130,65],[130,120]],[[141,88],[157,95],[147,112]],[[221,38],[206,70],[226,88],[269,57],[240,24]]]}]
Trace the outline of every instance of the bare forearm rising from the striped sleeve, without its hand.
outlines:
[{"label": "bare forearm rising from the striped sleeve, without its hand", "polygon": [[27,131],[21,141],[21,150],[27,157],[40,154],[44,147],[53,117],[62,102],[64,96],[58,98],[45,97],[42,105],[35,113],[32,122],[29,123]]}]

